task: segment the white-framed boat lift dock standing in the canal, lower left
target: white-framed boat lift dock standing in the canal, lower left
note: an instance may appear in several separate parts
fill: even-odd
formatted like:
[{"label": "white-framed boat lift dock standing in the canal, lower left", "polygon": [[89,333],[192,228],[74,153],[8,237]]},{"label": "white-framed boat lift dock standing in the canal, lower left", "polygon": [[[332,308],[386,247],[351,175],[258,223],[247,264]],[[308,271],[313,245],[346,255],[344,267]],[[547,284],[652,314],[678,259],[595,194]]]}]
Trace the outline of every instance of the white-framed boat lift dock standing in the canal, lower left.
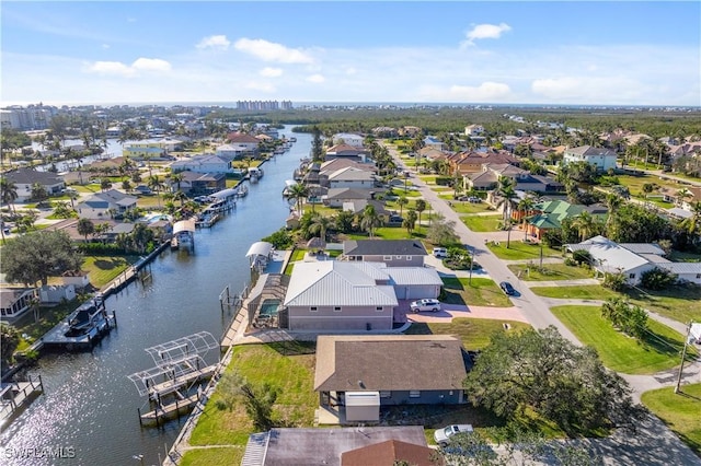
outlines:
[{"label": "white-framed boat lift dock standing in the canal, lower left", "polygon": [[193,387],[209,378],[218,363],[207,365],[206,354],[219,349],[219,342],[208,331],[200,331],[175,340],[146,348],[156,365],[129,375],[140,396],[148,396],[151,410],[141,413],[139,421],[156,421],[177,417],[199,400],[202,391],[192,394]]}]

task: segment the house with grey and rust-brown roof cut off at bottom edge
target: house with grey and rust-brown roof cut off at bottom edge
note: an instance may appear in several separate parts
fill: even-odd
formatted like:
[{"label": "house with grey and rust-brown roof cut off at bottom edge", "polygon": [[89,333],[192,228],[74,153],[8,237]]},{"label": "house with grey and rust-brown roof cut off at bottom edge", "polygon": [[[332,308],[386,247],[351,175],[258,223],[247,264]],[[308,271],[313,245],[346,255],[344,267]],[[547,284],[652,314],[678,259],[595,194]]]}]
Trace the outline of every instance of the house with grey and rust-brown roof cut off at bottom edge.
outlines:
[{"label": "house with grey and rust-brown roof cut off at bottom edge", "polygon": [[[407,462],[443,466],[432,459],[422,426],[337,429],[274,428],[249,436],[242,465],[372,466]],[[392,459],[393,458],[393,459]]]}]

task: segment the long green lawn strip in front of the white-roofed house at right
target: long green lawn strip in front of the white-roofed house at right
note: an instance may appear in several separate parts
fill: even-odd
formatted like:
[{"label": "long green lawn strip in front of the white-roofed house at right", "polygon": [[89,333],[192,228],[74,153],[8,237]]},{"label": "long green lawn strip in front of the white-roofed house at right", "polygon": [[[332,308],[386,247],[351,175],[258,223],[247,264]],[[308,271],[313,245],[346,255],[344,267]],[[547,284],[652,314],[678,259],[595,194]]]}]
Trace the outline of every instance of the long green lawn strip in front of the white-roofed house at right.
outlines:
[{"label": "long green lawn strip in front of the white-roofed house at right", "polygon": [[701,322],[701,308],[699,306],[701,287],[699,286],[673,287],[668,290],[652,291],[648,294],[643,294],[632,289],[618,293],[597,284],[533,287],[531,291],[540,296],[570,300],[607,300],[622,296],[628,298],[633,304],[685,324],[689,321]]}]

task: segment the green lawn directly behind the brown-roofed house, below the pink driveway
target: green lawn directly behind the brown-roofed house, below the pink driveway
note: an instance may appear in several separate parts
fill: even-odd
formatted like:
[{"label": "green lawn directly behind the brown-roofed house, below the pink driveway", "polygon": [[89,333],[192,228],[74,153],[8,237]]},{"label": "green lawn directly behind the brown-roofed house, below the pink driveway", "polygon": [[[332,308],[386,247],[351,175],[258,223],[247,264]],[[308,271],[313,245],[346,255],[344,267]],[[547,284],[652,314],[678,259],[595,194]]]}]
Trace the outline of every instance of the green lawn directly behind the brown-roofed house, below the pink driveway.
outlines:
[{"label": "green lawn directly behind the brown-roofed house, below the pink driveway", "polygon": [[[508,329],[504,326],[508,324]],[[455,335],[460,337],[469,351],[481,350],[490,343],[495,333],[512,333],[528,328],[530,325],[516,321],[492,321],[489,318],[453,318],[449,324],[414,323],[404,333],[406,335]]]}]

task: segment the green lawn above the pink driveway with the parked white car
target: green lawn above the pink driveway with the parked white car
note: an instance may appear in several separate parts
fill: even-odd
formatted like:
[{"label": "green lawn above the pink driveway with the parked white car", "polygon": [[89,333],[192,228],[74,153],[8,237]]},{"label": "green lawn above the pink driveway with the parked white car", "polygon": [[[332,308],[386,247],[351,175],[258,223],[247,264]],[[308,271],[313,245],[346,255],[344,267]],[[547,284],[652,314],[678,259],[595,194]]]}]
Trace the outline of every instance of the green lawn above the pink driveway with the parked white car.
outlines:
[{"label": "green lawn above the pink driveway with the parked white car", "polygon": [[487,307],[512,307],[514,304],[494,280],[490,278],[444,277],[444,291],[446,298],[443,300],[448,304],[461,304]]}]

